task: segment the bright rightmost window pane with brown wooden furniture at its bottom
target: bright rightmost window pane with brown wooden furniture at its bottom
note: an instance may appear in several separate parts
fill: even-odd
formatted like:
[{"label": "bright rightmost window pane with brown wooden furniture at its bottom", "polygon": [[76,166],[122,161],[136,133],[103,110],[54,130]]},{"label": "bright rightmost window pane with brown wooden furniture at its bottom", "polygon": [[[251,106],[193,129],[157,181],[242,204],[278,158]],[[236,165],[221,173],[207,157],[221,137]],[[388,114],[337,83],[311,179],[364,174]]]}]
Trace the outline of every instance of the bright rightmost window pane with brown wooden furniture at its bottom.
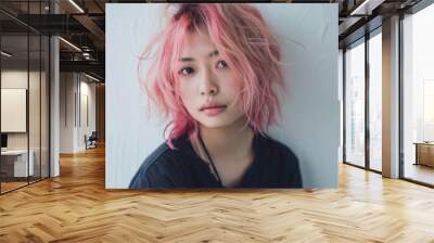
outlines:
[{"label": "bright rightmost window pane with brown wooden furniture at its bottom", "polygon": [[[434,184],[434,4],[403,20],[404,178]],[[430,152],[431,151],[431,152]],[[426,157],[427,156],[427,157]]]}]

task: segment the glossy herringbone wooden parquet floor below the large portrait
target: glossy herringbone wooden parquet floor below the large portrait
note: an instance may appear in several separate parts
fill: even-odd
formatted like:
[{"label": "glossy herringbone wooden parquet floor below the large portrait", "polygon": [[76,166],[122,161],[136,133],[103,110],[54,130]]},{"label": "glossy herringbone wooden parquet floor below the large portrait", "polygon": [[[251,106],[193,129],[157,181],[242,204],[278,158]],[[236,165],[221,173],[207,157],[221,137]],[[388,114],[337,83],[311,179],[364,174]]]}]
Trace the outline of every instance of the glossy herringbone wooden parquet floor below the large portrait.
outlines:
[{"label": "glossy herringbone wooden parquet floor below the large portrait", "polygon": [[104,189],[104,151],[0,196],[0,242],[434,242],[434,190],[340,166],[330,190]]}]

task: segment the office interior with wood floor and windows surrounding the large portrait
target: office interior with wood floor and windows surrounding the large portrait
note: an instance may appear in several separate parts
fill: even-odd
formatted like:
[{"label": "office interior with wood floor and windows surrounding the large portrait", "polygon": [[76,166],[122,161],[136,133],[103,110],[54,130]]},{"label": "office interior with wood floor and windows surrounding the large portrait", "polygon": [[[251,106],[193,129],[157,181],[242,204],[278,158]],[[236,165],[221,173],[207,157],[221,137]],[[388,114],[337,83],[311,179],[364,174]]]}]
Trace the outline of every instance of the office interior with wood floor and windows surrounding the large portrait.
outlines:
[{"label": "office interior with wood floor and windows surrounding the large portrait", "polygon": [[336,10],[336,188],[107,189],[106,8],[167,2],[0,1],[0,242],[434,242],[431,0],[250,1]]}]

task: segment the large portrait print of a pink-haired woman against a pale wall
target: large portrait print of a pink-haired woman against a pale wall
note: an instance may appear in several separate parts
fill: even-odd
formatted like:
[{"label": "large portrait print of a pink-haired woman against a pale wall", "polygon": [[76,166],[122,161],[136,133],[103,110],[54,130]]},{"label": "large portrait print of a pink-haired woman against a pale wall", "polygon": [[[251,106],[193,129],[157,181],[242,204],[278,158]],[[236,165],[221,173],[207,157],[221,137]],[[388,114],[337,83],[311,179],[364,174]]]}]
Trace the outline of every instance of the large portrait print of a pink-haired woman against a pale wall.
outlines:
[{"label": "large portrait print of a pink-haired woman against a pale wall", "polygon": [[107,189],[335,188],[337,5],[106,5]]}]

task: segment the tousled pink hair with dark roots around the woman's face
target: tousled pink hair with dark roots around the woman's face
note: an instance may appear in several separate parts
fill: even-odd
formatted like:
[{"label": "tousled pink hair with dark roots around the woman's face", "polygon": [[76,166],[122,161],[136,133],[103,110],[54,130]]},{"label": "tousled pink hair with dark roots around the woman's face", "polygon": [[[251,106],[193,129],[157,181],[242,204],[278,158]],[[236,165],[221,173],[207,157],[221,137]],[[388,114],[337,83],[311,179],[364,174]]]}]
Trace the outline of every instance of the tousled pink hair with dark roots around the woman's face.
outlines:
[{"label": "tousled pink hair with dark roots around the woman's face", "polygon": [[[174,139],[184,135],[195,136],[199,129],[197,122],[188,113],[177,91],[178,74],[175,67],[184,35],[203,30],[216,44],[229,67],[243,80],[241,101],[253,130],[263,133],[277,122],[281,113],[275,90],[275,86],[285,89],[280,67],[280,49],[259,11],[248,4],[179,4],[168,26],[151,41],[142,54],[142,57],[149,56],[156,47],[156,59],[141,82],[164,116],[171,116],[171,128],[166,136],[166,142],[171,149]],[[141,62],[139,72],[140,66]]]}]

